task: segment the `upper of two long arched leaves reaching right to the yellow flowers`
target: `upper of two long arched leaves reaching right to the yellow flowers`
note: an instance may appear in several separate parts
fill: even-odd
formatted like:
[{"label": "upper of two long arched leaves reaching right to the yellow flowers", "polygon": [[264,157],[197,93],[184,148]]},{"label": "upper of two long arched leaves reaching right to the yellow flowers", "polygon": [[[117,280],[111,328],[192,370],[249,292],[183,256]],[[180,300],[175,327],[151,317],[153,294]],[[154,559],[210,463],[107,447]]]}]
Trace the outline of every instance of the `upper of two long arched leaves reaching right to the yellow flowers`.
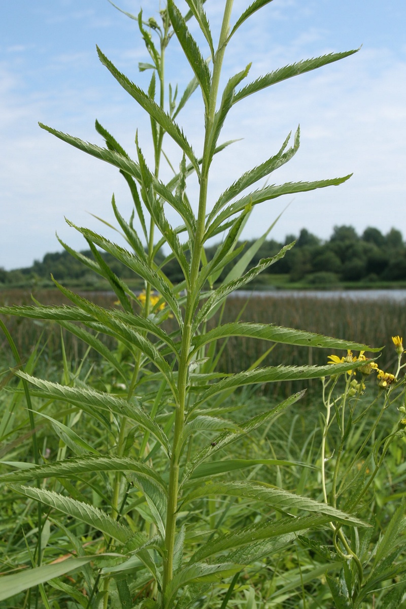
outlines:
[{"label": "upper of two long arched leaves reaching right to the yellow flowers", "polygon": [[268,323],[231,322],[213,328],[205,334],[194,338],[194,351],[212,340],[224,339],[229,336],[247,336],[261,340],[273,340],[284,345],[300,345],[302,347],[323,347],[327,349],[352,349],[354,351],[379,351],[379,348],[368,347],[362,343],[335,339],[323,334],[283,328]]}]

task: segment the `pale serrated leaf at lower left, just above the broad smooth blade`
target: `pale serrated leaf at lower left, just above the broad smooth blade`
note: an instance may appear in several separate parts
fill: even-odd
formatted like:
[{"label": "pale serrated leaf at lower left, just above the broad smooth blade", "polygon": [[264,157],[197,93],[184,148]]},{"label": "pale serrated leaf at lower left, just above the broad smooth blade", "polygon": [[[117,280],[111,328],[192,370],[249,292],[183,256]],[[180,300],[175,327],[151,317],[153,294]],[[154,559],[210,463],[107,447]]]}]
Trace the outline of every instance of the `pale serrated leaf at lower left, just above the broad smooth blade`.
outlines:
[{"label": "pale serrated leaf at lower left, just above the broad smooth blade", "polygon": [[99,510],[98,507],[93,507],[88,503],[76,501],[76,499],[65,497],[44,488],[23,487],[18,484],[10,484],[9,486],[16,493],[30,497],[34,501],[41,501],[52,509],[72,516],[72,518],[100,530],[107,537],[113,537],[119,543],[125,543],[131,537],[131,529],[119,524],[114,518]]}]

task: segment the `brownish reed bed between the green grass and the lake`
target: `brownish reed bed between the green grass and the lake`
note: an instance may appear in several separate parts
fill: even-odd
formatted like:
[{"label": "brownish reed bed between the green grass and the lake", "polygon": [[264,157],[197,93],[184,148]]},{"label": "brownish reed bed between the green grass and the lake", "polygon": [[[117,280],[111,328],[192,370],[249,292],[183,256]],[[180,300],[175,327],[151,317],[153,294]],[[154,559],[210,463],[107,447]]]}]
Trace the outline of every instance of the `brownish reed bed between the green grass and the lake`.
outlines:
[{"label": "brownish reed bed between the green grass and the lake", "polygon": [[[97,305],[114,307],[116,297],[109,292],[83,293]],[[57,290],[38,290],[33,294],[44,305],[68,304]],[[32,304],[28,290],[15,289],[0,292],[1,305]],[[245,308],[245,309],[244,309]],[[236,319],[251,320],[257,323],[275,323],[278,326],[301,328],[307,331],[345,338],[362,342],[373,347],[391,345],[391,336],[404,334],[406,328],[406,306],[402,301],[390,298],[377,300],[348,300],[346,298],[314,297],[261,297],[236,295],[229,298],[223,312],[223,322]],[[211,326],[218,323],[218,315],[211,320]],[[41,337],[41,344],[46,345],[43,357],[48,361],[60,361],[61,329],[56,323],[37,322],[18,317],[5,320],[19,352],[27,357]],[[169,323],[170,326],[170,322]],[[167,328],[170,330],[170,327]],[[66,354],[72,361],[78,361],[86,351],[77,337],[62,331]],[[109,341],[109,339],[105,339]],[[114,348],[114,340],[108,344]],[[270,343],[245,337],[228,339],[219,361],[219,370],[233,373],[250,367],[270,347]],[[0,340],[1,359],[11,358],[4,338]],[[324,364],[329,355],[325,349],[295,347],[276,344],[273,350],[261,362],[261,365],[304,365]],[[383,349],[379,366],[390,369],[394,365],[396,354],[390,349]],[[11,361],[11,360],[10,360]],[[275,389],[277,389],[275,387]],[[289,391],[292,387],[287,387]]]}]

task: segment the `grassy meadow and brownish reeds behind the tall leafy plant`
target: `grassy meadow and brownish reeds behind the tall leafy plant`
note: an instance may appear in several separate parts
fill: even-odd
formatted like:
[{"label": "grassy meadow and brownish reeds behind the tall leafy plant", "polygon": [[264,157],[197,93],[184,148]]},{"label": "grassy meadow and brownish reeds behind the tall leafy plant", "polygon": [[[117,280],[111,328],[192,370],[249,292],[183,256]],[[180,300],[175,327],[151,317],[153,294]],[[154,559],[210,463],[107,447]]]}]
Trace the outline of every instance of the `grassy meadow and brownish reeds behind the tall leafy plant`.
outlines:
[{"label": "grassy meadow and brownish reeds behind the tall leafy plant", "polygon": [[[111,294],[92,294],[93,300],[100,306],[106,308],[117,308],[115,297]],[[2,293],[2,305],[27,305],[30,302],[29,292],[12,290]],[[64,299],[60,297],[57,290],[46,290],[36,293],[35,298],[43,304],[61,305]],[[249,319],[256,323],[276,323],[284,326],[298,326],[316,333],[331,334],[332,336],[348,336],[352,340],[363,339],[372,346],[388,345],[383,350],[380,366],[385,370],[396,368],[397,355],[393,349],[391,336],[402,333],[405,328],[406,312],[404,303],[391,300],[378,301],[349,301],[345,299],[324,300],[317,298],[273,298],[273,297],[239,297],[234,295],[226,301],[223,312],[211,320],[214,328],[220,322],[231,320],[243,320],[249,315]],[[20,317],[3,316],[7,328],[12,334],[19,353],[24,361],[24,367],[30,373],[51,379],[62,384],[77,382],[80,386],[80,378],[85,379],[87,384],[93,387],[112,392],[114,395],[122,395],[121,385],[117,382],[114,386],[114,375],[111,367],[103,362],[96,352],[88,351],[88,345],[81,342],[77,337],[67,333],[55,322],[21,319]],[[166,320],[167,331],[170,333],[172,320]],[[119,345],[113,339],[108,339],[108,347],[114,353],[118,353]],[[33,350],[33,348],[35,349]],[[271,348],[267,357],[261,358]],[[326,364],[327,355],[331,350],[312,349],[283,345],[273,345],[269,342],[249,339],[248,337],[231,337],[224,345],[219,344],[221,353],[218,369],[233,373],[241,369],[249,368],[253,362],[260,365],[272,365],[283,362],[284,365],[297,365],[303,363],[307,357],[308,364]],[[335,351],[340,356],[340,351]],[[2,336],[1,343],[1,369],[3,391],[0,393],[1,418],[0,418],[0,454],[2,464],[0,472],[9,473],[10,468],[19,467],[19,463],[33,460],[32,427],[27,415],[24,398],[21,393],[10,393],[10,389],[16,386],[15,380],[10,378],[8,367],[12,365],[12,353]],[[373,375],[374,376],[374,375]],[[75,381],[76,379],[76,381]],[[340,379],[342,384],[343,379]],[[366,378],[366,389],[363,395],[359,393],[353,397],[351,411],[355,424],[348,430],[346,438],[346,449],[341,455],[340,472],[351,472],[351,484],[343,483],[340,490],[340,502],[348,505],[349,498],[354,493],[354,475],[364,471],[368,479],[368,473],[373,470],[373,459],[371,451],[373,446],[380,446],[383,438],[388,437],[396,428],[399,413],[394,405],[394,393],[391,404],[382,409],[382,400],[385,396],[376,384],[376,378]],[[21,381],[20,381],[21,385]],[[310,386],[309,386],[310,385]],[[337,384],[336,405],[338,396],[342,395],[343,386],[338,390]],[[217,470],[212,471],[210,477],[205,477],[203,470],[199,474],[198,482],[206,483],[215,480],[222,474],[225,481],[233,480],[233,469],[241,468],[247,484],[251,481],[261,480],[262,483],[271,487],[281,487],[298,495],[306,495],[317,501],[322,501],[321,485],[321,463],[320,451],[323,438],[323,396],[320,379],[312,381],[279,382],[256,385],[254,389],[242,389],[231,392],[224,398],[211,405],[211,414],[217,410],[226,410],[229,420],[234,424],[240,424],[244,417],[255,417],[264,410],[273,409],[285,396],[301,388],[307,388],[306,395],[297,403],[292,404],[287,413],[281,413],[265,428],[253,429],[249,437],[245,436],[231,446],[226,446],[219,457],[215,457]],[[401,393],[401,389],[396,390]],[[153,409],[156,401],[156,393],[159,393],[159,383],[148,382],[138,387],[137,393],[142,394],[142,404],[145,409]],[[380,395],[380,400],[377,395]],[[33,409],[38,412],[35,415],[35,434],[37,445],[43,463],[52,464],[67,457],[75,459],[83,454],[108,454],[111,451],[111,442],[114,438],[109,437],[109,432],[100,423],[92,420],[86,411],[77,409],[68,403],[61,406],[60,402],[54,400],[41,400],[32,396]],[[399,406],[399,404],[397,404]],[[368,413],[363,417],[363,412]],[[243,414],[245,413],[245,414]],[[324,415],[323,415],[324,416]],[[167,423],[169,415],[161,412],[159,423]],[[375,423],[379,423],[376,425]],[[399,435],[399,434],[398,434]],[[203,437],[194,438],[194,449],[199,446],[203,448],[205,442],[212,438],[210,432]],[[329,467],[334,468],[337,459],[334,451],[340,446],[340,429],[330,429],[328,446],[332,454],[329,459]],[[144,437],[130,429],[127,437],[124,454],[138,456],[142,454]],[[334,449],[334,445],[336,448]],[[382,447],[381,447],[382,448]],[[114,448],[113,448],[114,450]],[[189,451],[192,445],[189,446]],[[155,452],[155,454],[153,454]],[[386,451],[385,451],[386,452]],[[153,456],[152,456],[153,454]],[[359,550],[363,560],[364,581],[366,580],[365,594],[360,604],[354,607],[373,609],[374,607],[405,607],[402,602],[405,585],[402,583],[406,567],[406,552],[399,546],[402,540],[402,497],[405,495],[404,482],[406,478],[406,438],[395,437],[388,445],[385,454],[385,463],[373,478],[372,484],[367,488],[362,498],[357,513],[360,517],[374,523],[373,529],[367,533],[360,529],[357,537],[352,538],[353,543]],[[220,460],[219,460],[220,459]],[[155,468],[165,470],[163,457],[159,452],[150,451],[149,463]],[[213,461],[211,461],[213,463]],[[233,464],[231,471],[222,465]],[[210,465],[210,463],[208,463]],[[368,467],[366,467],[368,465]],[[22,465],[21,465],[22,466]],[[355,474],[354,474],[355,471]],[[24,473],[24,470],[23,470]],[[341,474],[340,474],[341,475]],[[128,478],[131,480],[131,476]],[[345,481],[345,477],[343,480]],[[105,487],[105,488],[103,488]],[[105,473],[102,479],[97,479],[97,474],[72,473],[70,477],[57,479],[44,479],[41,488],[68,493],[86,505],[111,509],[111,500],[108,498],[109,491],[114,487],[114,476]],[[346,488],[349,487],[349,488]],[[122,517],[130,524],[131,529],[147,530],[153,535],[153,519],[151,518],[148,505],[136,488],[127,487],[127,505],[122,509]],[[26,498],[25,498],[26,499]],[[244,506],[247,505],[247,509]],[[249,510],[248,510],[249,505]],[[400,509],[400,512],[399,512]],[[2,561],[2,574],[14,574],[26,570],[35,556],[35,547],[38,546],[38,518],[37,503],[33,498],[28,502],[13,489],[4,492],[0,503],[0,560]],[[297,513],[295,507],[289,512]],[[283,512],[282,512],[283,513]],[[236,527],[253,527],[255,523],[264,518],[273,520],[281,518],[278,507],[266,507],[256,499],[219,497],[201,498],[195,501],[192,510],[180,513],[180,519],[185,523],[194,523],[200,533],[194,533],[192,546],[199,543],[200,535],[205,530],[217,531],[217,534]],[[65,558],[74,555],[85,557],[86,552],[92,555],[102,551],[103,535],[94,534],[89,523],[83,522],[83,518],[74,519],[72,515],[65,516],[55,512],[52,505],[48,505],[45,513],[42,513],[43,530],[41,532],[41,553],[43,561],[54,564],[60,560],[61,555]],[[392,523],[392,524],[391,524]],[[392,535],[388,537],[388,530]],[[386,533],[385,533],[386,531]],[[400,537],[399,537],[400,535]],[[197,537],[196,537],[197,536]],[[360,537],[358,537],[360,536]],[[396,540],[393,536],[398,536]],[[287,537],[285,535],[285,537]],[[383,541],[385,542],[383,544]],[[72,547],[72,543],[74,544]],[[390,551],[391,549],[391,551]],[[394,550],[394,553],[393,553]],[[391,557],[388,564],[387,557]],[[380,558],[380,561],[378,560]],[[97,562],[96,574],[100,575],[107,568],[111,569],[111,560],[105,558],[105,563]],[[117,560],[117,559],[116,559]],[[133,560],[133,559],[132,559]],[[145,558],[146,560],[146,558]],[[383,564],[382,564],[383,563]],[[56,563],[58,564],[58,563]],[[118,564],[118,563],[117,563]],[[285,609],[306,608],[316,609],[318,607],[330,607],[331,589],[334,578],[351,582],[351,574],[345,572],[351,568],[347,566],[343,571],[342,557],[332,543],[331,534],[323,528],[316,528],[313,533],[304,530],[301,534],[289,539],[283,538],[278,547],[265,556],[257,558],[248,568],[237,571],[233,577],[225,577],[218,580],[211,589],[204,588],[200,594],[198,607],[219,608],[225,607],[247,609]],[[141,581],[141,590],[138,594],[142,596],[155,594],[155,585],[151,574],[142,579],[137,576],[138,563],[128,565],[127,572],[132,577],[138,577]],[[87,569],[87,570],[86,570]],[[113,569],[114,573],[114,569]],[[140,572],[142,573],[142,571]],[[141,577],[141,580],[139,580]],[[328,577],[331,578],[328,583]],[[368,581],[369,578],[369,581]],[[31,594],[30,591],[22,591],[16,596],[9,597],[0,602],[3,609],[26,608],[26,607],[49,607],[50,609],[74,609],[78,607],[98,607],[92,599],[91,590],[97,590],[97,582],[92,579],[88,568],[82,571],[72,572],[65,577],[54,577],[48,583],[39,586],[40,594]],[[111,607],[127,607],[119,594],[119,582],[113,579],[113,592],[116,594],[116,604]],[[96,583],[95,583],[96,582]],[[338,579],[337,579],[338,582]],[[118,585],[117,585],[118,584]],[[96,588],[95,588],[96,585]],[[337,584],[338,586],[338,584]],[[391,588],[396,586],[396,594],[387,600],[393,600],[393,604],[381,604],[383,597],[390,593]],[[85,590],[88,590],[86,593]],[[31,590],[35,590],[32,588]],[[94,596],[100,602],[103,595]],[[124,593],[122,593],[124,594]],[[338,593],[337,593],[338,595]],[[340,596],[337,596],[339,598]],[[112,596],[114,599],[114,594]],[[118,599],[118,600],[117,600]],[[121,599],[121,600],[120,600]],[[137,595],[132,597],[131,602],[139,600]],[[132,607],[135,605],[128,605]],[[336,604],[336,607],[340,605]],[[346,605],[342,605],[346,607]],[[348,605],[350,606],[350,605]],[[351,605],[352,606],[352,605]]]}]

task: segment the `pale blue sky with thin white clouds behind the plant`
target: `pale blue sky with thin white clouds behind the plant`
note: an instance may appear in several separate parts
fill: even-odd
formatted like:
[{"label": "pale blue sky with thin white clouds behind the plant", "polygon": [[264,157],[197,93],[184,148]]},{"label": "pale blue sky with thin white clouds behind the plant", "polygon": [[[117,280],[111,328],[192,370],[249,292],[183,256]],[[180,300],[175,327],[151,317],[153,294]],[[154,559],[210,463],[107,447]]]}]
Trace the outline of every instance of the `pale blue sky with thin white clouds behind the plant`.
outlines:
[{"label": "pale blue sky with thin white clouds behind the plant", "polygon": [[[123,10],[159,21],[159,0],[116,0]],[[161,0],[161,4],[163,0]],[[214,40],[219,37],[222,0],[205,9]],[[248,0],[234,0],[232,23]],[[178,7],[186,12],[184,0]],[[259,237],[285,209],[270,238],[307,228],[328,239],[335,225],[366,227],[406,238],[406,3],[399,0],[273,0],[243,24],[226,49],[222,83],[252,62],[247,82],[273,69],[329,52],[359,52],[286,80],[235,105],[220,142],[240,139],[217,155],[209,174],[209,208],[236,178],[278,151],[289,132],[301,127],[293,159],[269,183],[310,181],[353,173],[338,187],[285,196],[254,208],[243,237]],[[191,32],[209,52],[189,21]],[[145,87],[150,71],[138,24],[108,0],[18,0],[0,2],[0,267],[30,266],[61,250],[55,233],[72,248],[86,249],[74,224],[110,239],[114,192],[122,216],[131,199],[118,170],[41,130],[38,121],[103,146],[98,119],[135,158],[135,133],[152,161],[149,119],[99,62],[96,44],[130,80]],[[166,55],[166,83],[180,94],[192,78],[175,37]],[[197,156],[203,146],[203,104],[195,91],[177,121]],[[164,150],[180,161],[168,136]],[[161,178],[172,173],[163,163]],[[262,186],[263,181],[257,186]],[[196,209],[195,180],[188,182]],[[93,215],[92,215],[93,214]],[[177,218],[169,219],[177,224]]]}]

